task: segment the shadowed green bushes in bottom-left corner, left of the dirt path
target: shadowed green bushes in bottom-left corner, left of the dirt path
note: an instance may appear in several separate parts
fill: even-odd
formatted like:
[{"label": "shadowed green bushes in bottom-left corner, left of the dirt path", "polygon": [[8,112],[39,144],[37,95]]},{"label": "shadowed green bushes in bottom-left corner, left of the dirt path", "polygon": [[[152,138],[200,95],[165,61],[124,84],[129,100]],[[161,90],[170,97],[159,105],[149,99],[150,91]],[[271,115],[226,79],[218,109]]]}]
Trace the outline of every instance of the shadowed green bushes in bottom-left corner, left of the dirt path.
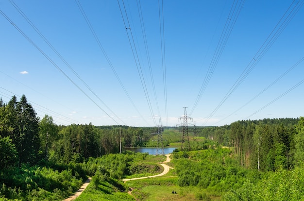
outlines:
[{"label": "shadowed green bushes in bottom-left corner, left of the dirt path", "polygon": [[1,173],[0,197],[24,200],[62,200],[75,192],[85,179],[84,171],[77,164],[64,170],[22,165]]}]

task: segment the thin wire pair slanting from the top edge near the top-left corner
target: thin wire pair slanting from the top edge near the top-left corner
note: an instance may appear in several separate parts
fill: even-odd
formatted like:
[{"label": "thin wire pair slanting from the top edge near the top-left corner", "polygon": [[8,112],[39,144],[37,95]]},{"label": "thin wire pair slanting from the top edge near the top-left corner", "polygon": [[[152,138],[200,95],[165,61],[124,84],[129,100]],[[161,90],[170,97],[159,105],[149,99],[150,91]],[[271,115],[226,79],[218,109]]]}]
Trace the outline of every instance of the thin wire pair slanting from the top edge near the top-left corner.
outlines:
[{"label": "thin wire pair slanting from the top edge near the top-left corner", "polygon": [[[122,123],[124,123],[102,100],[101,98],[84,82],[84,80],[78,75],[78,73],[68,64],[68,62],[62,57],[62,55],[51,45],[51,43],[47,40],[47,38],[36,28],[36,26],[32,23],[32,21],[22,12],[22,10],[17,6],[17,4],[13,0],[9,0],[11,4],[16,8],[16,10],[20,13],[20,15],[31,25],[31,27],[35,30],[36,33],[48,44],[48,46],[53,50],[56,55],[65,63],[65,65],[76,75],[76,77],[89,89],[93,95],[112,113],[116,116]],[[124,123],[125,124],[125,123]]]}]

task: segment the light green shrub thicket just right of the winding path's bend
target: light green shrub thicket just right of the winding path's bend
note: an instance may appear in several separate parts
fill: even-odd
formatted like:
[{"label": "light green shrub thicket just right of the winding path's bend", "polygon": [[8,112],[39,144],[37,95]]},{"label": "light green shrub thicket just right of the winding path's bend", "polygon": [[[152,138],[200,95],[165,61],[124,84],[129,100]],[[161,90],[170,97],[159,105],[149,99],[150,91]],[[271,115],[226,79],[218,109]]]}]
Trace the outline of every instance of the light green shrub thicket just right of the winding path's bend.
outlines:
[{"label": "light green shrub thicket just right of the winding path's bend", "polygon": [[[188,157],[181,157],[183,151],[174,153],[175,169],[180,186],[199,186],[217,192],[239,188],[249,170],[237,166],[231,158],[231,151],[217,147],[202,151],[189,151]],[[176,157],[177,156],[177,157]]]}]

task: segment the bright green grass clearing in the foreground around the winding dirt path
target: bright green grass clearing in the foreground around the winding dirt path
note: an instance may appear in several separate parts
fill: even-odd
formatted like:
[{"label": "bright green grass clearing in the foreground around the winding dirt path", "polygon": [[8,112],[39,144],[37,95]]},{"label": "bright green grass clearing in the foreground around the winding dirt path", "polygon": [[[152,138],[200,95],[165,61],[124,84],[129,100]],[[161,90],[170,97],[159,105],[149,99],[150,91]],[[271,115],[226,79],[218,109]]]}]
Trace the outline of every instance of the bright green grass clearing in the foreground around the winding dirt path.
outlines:
[{"label": "bright green grass clearing in the foreground around the winding dirt path", "polygon": [[[165,160],[164,156],[147,155],[145,160],[135,163],[155,164]],[[174,160],[167,165],[174,167]],[[147,173],[132,175],[132,178],[144,176],[147,176]],[[97,186],[90,183],[76,201],[220,201],[221,199],[219,193],[196,186],[181,187],[177,185],[177,181],[175,169],[170,169],[168,174],[161,177],[133,180],[124,184],[120,181],[112,184],[102,182]],[[128,189],[132,189],[130,194],[127,192]]]}]

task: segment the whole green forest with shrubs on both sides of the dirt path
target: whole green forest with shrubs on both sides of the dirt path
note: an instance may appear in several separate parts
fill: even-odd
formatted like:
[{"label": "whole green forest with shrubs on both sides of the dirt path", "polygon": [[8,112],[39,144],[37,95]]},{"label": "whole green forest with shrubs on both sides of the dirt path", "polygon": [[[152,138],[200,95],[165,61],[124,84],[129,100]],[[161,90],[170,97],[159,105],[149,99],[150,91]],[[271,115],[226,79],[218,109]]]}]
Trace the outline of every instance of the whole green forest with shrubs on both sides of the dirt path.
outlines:
[{"label": "whole green forest with shrubs on both sides of the dirt path", "polygon": [[[159,167],[143,165],[147,154],[123,148],[155,146],[156,131],[56,125],[48,115],[38,118],[25,95],[7,104],[0,99],[0,200],[62,200],[88,176],[96,185],[118,186],[122,200],[132,200],[119,179]],[[177,178],[170,185],[205,189],[222,200],[304,200],[304,117],[239,120],[189,127],[188,133],[191,149],[172,153]],[[178,128],[166,128],[163,136],[164,146],[182,140]],[[204,196],[196,199],[212,197]]]}]

